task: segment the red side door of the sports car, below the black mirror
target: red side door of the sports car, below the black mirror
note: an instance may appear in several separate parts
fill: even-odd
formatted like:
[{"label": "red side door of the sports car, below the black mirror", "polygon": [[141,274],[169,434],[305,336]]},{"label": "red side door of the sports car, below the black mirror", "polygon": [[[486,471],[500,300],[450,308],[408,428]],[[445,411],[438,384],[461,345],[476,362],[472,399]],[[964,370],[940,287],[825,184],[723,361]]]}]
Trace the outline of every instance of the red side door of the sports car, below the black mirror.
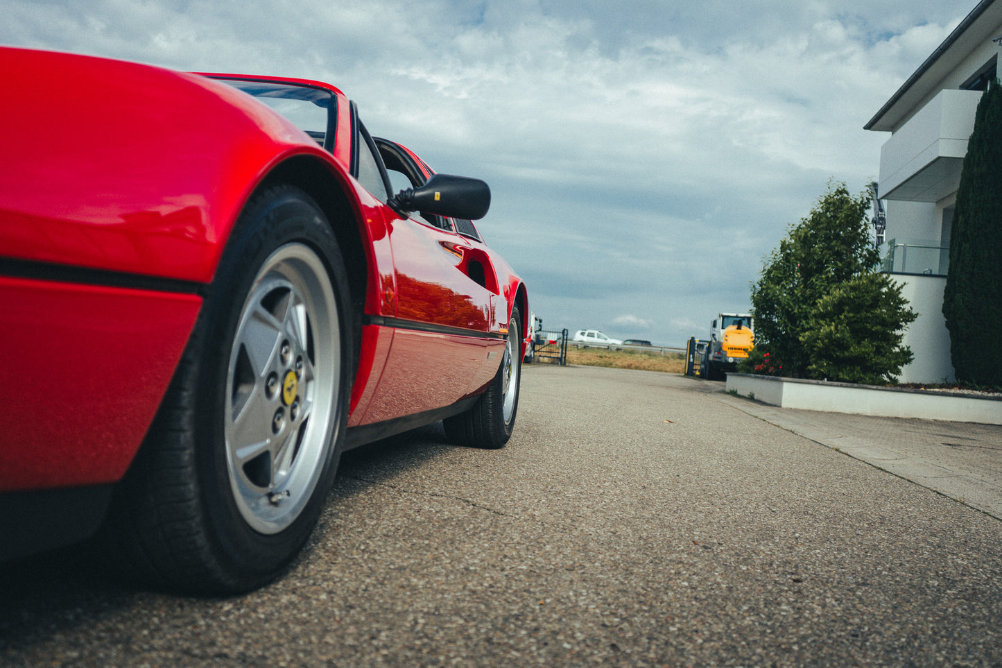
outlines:
[{"label": "red side door of the sports car, below the black mirror", "polygon": [[[360,141],[388,184],[380,149],[364,127]],[[406,176],[413,186],[427,179],[421,172]],[[388,200],[386,188],[363,185]],[[387,212],[396,312],[380,320],[393,328],[393,340],[365,423],[448,406],[482,388],[498,368],[507,326],[508,305],[482,250],[449,219]]]}]

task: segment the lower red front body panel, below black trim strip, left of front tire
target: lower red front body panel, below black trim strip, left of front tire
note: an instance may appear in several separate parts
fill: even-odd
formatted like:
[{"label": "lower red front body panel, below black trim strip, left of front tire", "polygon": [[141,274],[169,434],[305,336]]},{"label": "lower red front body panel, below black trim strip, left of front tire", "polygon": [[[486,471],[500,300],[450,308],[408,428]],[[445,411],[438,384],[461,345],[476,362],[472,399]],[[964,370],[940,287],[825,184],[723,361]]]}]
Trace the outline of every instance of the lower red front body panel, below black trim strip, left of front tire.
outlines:
[{"label": "lower red front body panel, below black trim strip, left of front tire", "polygon": [[128,467],[201,300],[0,277],[0,489],[113,482]]}]

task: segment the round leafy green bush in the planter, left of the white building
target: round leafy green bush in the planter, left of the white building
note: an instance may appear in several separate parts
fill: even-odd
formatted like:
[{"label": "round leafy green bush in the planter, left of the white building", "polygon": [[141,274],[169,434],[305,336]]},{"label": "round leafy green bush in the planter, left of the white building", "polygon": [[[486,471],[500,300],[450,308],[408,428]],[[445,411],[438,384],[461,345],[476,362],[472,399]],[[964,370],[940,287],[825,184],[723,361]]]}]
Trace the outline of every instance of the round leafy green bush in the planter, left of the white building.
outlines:
[{"label": "round leafy green bush in the planter, left of the white building", "polygon": [[901,288],[876,273],[870,203],[869,192],[854,198],[830,184],[772,252],[752,286],[758,354],[742,369],[877,383],[911,360],[901,342],[916,316]]}]

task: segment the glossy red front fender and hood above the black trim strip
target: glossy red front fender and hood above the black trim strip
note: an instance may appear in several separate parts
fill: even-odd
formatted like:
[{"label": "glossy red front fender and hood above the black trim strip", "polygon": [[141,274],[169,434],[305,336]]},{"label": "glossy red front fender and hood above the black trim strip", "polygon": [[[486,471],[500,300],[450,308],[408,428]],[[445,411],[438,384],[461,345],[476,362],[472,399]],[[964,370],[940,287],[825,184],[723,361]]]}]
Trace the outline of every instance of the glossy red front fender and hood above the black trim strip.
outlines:
[{"label": "glossy red front fender and hood above the black trim strip", "polygon": [[2,71],[23,96],[0,108],[0,155],[17,159],[0,171],[7,257],[206,283],[264,175],[325,155],[193,74],[24,49],[4,49]]}]

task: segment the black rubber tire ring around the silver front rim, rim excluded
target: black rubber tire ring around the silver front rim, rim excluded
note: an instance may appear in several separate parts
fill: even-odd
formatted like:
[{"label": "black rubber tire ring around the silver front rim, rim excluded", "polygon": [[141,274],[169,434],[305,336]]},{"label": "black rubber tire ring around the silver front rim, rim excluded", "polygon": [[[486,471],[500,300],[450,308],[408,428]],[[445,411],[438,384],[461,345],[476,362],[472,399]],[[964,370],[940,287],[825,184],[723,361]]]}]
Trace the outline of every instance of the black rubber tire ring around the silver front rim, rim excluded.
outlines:
[{"label": "black rubber tire ring around the silver front rim, rim excluded", "polygon": [[[342,356],[336,379],[340,388],[326,436],[327,442],[333,444],[325,454],[310,500],[289,527],[265,535],[246,524],[232,495],[225,452],[225,388],[231,347],[247,295],[264,263],[289,243],[311,248],[331,278],[342,324]],[[199,319],[199,326],[204,328],[199,364],[203,376],[197,383],[195,470],[203,522],[214,556],[220,570],[239,574],[241,583],[254,586],[266,582],[292,561],[313,531],[336,473],[351,388],[348,370],[353,337],[346,331],[352,322],[347,285],[340,249],[320,209],[296,189],[276,189],[256,198],[241,217],[203,304],[202,315],[206,317]]]}]

